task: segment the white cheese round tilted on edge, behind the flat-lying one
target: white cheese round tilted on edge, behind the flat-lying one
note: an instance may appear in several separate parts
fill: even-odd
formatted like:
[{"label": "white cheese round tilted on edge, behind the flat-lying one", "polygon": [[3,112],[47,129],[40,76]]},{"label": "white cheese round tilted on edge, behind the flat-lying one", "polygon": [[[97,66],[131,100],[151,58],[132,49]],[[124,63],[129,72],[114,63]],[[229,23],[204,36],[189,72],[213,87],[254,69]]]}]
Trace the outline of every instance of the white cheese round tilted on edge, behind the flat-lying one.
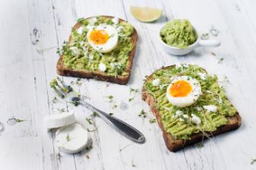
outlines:
[{"label": "white cheese round tilted on edge, behind the flat-lying one", "polygon": [[48,130],[60,128],[73,123],[75,123],[75,116],[72,112],[63,112],[54,115],[46,115],[43,117],[43,124]]}]

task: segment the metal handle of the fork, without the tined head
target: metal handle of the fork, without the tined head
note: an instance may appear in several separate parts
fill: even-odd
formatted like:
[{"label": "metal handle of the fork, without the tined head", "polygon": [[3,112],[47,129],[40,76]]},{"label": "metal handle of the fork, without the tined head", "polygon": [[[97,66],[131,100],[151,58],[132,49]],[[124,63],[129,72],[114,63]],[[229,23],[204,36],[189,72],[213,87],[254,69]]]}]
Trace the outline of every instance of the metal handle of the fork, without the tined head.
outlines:
[{"label": "metal handle of the fork, without the tined head", "polygon": [[130,140],[133,140],[136,143],[145,143],[146,138],[144,135],[138,131],[136,128],[133,128],[130,124],[126,124],[126,122],[121,121],[114,116],[108,115],[106,112],[102,112],[101,110],[95,108],[94,106],[90,105],[88,102],[79,101],[79,104],[84,105],[87,109],[90,109],[93,112],[98,112],[98,115],[110,125],[110,127],[114,128],[124,137],[127,137]]}]

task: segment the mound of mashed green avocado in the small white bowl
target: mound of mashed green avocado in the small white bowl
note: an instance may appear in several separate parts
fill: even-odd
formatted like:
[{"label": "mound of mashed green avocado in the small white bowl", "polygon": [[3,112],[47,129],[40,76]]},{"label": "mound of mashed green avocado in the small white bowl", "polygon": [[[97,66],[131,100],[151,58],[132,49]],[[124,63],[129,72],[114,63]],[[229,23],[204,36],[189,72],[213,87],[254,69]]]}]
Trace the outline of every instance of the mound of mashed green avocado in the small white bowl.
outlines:
[{"label": "mound of mashed green avocado in the small white bowl", "polygon": [[169,46],[185,49],[197,41],[197,33],[189,20],[172,20],[165,24],[160,35]]}]

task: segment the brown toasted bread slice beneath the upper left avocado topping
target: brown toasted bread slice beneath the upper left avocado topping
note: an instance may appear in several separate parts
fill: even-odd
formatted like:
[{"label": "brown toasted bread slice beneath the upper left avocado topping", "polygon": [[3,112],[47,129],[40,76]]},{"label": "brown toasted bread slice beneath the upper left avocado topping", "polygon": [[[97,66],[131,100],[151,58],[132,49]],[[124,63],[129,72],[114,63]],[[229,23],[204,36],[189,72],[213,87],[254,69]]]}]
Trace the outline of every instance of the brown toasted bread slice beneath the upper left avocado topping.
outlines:
[{"label": "brown toasted bread slice beneath the upper left avocado topping", "polygon": [[[113,18],[110,16],[98,16],[98,17],[109,17],[109,18]],[[90,17],[88,17],[90,18]],[[85,18],[85,19],[88,19]],[[119,21],[125,21],[122,19],[119,19]],[[79,27],[81,27],[82,24],[81,23],[77,23],[75,24],[75,26],[73,27],[73,29],[78,30]],[[128,62],[126,65],[126,72],[128,73],[127,75],[119,75],[119,76],[110,76],[107,75],[106,73],[103,73],[101,71],[87,71],[87,70],[83,70],[83,71],[76,71],[72,68],[67,68],[63,61],[62,61],[62,56],[60,56],[59,61],[57,62],[57,74],[61,75],[61,76],[69,76],[69,77],[82,77],[82,78],[94,78],[96,80],[104,80],[104,81],[109,81],[111,83],[119,83],[119,84],[126,84],[128,83],[129,79],[130,79],[130,74],[132,71],[132,66],[133,66],[133,58],[135,55],[135,51],[136,51],[136,43],[137,43],[137,39],[138,39],[138,34],[135,30],[135,28],[133,27],[133,35],[131,36],[131,39],[133,40],[133,50],[130,52],[129,58],[128,58]],[[72,40],[72,36],[69,36],[69,42],[71,42]]]}]

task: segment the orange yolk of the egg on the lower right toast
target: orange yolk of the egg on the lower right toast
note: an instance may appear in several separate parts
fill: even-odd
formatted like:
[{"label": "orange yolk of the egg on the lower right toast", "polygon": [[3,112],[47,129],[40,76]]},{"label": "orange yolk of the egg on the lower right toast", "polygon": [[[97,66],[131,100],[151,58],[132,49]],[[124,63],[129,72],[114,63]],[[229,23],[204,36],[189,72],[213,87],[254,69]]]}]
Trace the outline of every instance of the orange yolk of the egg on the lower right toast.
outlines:
[{"label": "orange yolk of the egg on the lower right toast", "polygon": [[172,84],[169,93],[174,97],[184,97],[187,96],[191,91],[192,87],[190,83],[188,83],[186,80],[178,80]]}]

